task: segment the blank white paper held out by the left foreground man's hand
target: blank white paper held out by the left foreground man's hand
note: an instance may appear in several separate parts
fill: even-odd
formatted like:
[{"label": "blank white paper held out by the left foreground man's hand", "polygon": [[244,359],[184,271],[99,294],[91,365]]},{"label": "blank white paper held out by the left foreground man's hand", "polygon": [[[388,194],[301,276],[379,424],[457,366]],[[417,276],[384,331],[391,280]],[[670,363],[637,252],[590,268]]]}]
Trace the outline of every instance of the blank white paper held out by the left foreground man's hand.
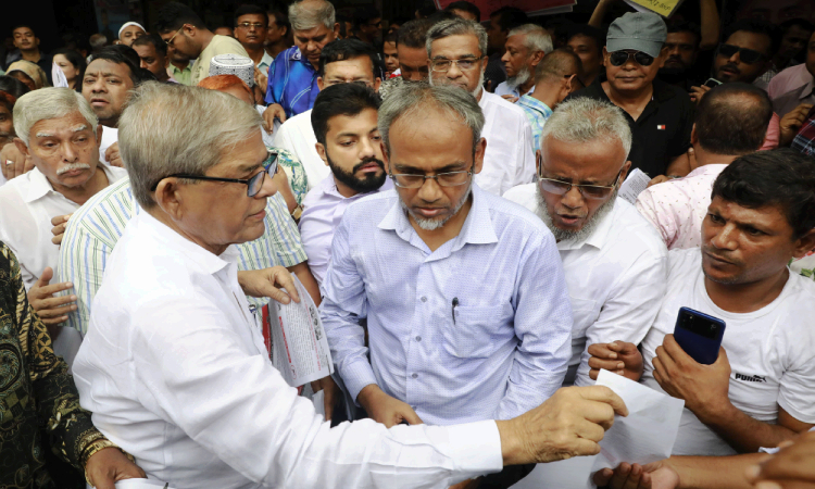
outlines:
[{"label": "blank white paper held out by the left foreground man's hand", "polygon": [[657,392],[609,371],[600,371],[598,386],[623,398],[628,416],[615,416],[614,426],[600,442],[591,473],[623,462],[648,464],[670,456],[685,401]]}]

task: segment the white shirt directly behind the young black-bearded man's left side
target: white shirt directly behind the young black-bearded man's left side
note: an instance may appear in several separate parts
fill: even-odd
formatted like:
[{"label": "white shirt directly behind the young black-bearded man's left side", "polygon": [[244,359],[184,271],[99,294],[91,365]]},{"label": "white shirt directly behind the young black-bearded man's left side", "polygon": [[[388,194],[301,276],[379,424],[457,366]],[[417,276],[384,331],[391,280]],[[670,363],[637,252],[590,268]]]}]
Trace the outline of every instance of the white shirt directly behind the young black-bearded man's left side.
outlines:
[{"label": "white shirt directly behind the young black-bearded man's left side", "polygon": [[287,118],[279,128],[275,129],[274,136],[275,148],[288,150],[303,164],[309,190],[331,174],[331,168],[319,158],[315,148],[317,137],[311,125],[311,109]]}]

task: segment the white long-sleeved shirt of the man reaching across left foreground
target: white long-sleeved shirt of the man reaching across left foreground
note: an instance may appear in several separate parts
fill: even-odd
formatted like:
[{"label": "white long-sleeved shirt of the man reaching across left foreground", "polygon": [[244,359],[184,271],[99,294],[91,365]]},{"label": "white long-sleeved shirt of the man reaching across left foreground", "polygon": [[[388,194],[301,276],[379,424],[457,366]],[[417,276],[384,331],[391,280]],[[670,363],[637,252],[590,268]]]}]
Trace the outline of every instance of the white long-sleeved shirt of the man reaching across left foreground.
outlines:
[{"label": "white long-sleeved shirt of the man reaching across left foreground", "polygon": [[179,489],[446,488],[501,468],[494,422],[329,428],[272,366],[216,256],[148,213],[127,224],[74,365],[83,408],[148,477]]}]

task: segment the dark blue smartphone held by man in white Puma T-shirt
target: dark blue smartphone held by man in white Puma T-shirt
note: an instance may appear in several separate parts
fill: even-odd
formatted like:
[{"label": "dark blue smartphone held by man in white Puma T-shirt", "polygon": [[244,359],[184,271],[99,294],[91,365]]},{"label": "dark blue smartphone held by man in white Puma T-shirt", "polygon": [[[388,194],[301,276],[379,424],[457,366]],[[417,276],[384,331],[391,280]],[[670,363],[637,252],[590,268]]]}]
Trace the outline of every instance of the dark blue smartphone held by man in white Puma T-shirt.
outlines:
[{"label": "dark blue smartphone held by man in white Puma T-shirt", "polygon": [[718,358],[725,322],[690,308],[680,308],[674,338],[691,359],[711,365]]}]

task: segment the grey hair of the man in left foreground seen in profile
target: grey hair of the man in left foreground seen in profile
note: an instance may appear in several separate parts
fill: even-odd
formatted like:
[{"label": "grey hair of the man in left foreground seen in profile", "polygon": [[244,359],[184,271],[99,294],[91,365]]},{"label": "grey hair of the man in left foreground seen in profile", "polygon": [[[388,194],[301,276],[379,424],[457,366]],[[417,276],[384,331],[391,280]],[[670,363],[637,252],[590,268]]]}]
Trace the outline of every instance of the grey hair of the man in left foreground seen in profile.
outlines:
[{"label": "grey hair of the man in left foreground seen in profile", "polygon": [[262,123],[254,106],[228,93],[142,84],[118,121],[118,150],[134,197],[143,209],[153,208],[153,185],[177,173],[203,175]]}]

